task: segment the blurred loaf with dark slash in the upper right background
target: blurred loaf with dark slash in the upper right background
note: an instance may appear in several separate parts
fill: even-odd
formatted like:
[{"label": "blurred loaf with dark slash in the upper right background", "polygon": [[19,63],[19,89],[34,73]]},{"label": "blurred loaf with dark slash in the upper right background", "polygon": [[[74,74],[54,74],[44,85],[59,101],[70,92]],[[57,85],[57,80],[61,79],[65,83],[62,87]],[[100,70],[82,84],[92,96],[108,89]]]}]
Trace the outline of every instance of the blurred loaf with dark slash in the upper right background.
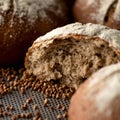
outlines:
[{"label": "blurred loaf with dark slash in the upper right background", "polygon": [[76,0],[75,21],[104,24],[120,30],[120,0]]}]

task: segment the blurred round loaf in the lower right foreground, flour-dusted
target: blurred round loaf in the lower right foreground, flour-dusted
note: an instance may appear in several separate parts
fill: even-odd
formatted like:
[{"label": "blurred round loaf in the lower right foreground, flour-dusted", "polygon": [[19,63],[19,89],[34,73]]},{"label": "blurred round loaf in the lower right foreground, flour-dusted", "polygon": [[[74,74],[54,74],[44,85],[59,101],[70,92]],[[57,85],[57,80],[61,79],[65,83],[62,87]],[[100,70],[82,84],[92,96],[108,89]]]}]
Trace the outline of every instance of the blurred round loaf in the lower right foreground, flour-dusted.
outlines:
[{"label": "blurred round loaf in the lower right foreground, flour-dusted", "polygon": [[120,63],[104,67],[72,96],[69,120],[120,120]]}]

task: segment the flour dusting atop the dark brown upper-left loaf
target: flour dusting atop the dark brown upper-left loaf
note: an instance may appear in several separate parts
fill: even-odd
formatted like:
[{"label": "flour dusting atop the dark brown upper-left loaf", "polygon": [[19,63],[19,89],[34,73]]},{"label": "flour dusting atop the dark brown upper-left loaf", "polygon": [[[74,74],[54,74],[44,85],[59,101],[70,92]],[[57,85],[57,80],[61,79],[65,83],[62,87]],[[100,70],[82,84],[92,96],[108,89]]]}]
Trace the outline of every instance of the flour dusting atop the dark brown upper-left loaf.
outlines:
[{"label": "flour dusting atop the dark brown upper-left loaf", "polygon": [[[0,0],[0,13],[5,14],[5,12],[12,9],[10,7],[13,4],[12,18],[17,16],[21,23],[23,18],[27,18],[28,22],[32,25],[38,18],[41,21],[45,19],[53,21],[49,17],[48,11],[55,15],[63,16],[63,7],[59,3],[60,0]],[[0,17],[0,22],[3,21],[2,19]]]}]

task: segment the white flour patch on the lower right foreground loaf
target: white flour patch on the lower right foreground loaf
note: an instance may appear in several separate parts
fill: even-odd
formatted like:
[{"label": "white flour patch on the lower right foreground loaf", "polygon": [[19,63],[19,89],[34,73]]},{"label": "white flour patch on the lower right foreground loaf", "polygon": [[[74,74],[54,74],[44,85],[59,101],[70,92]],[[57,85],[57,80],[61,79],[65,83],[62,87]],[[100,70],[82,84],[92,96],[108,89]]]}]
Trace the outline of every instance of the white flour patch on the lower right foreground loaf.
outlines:
[{"label": "white flour patch on the lower right foreground loaf", "polygon": [[[94,73],[90,79],[91,82],[88,84],[88,89],[90,90],[89,95],[93,96],[92,94],[97,91],[97,94],[94,94],[94,98],[92,98],[96,103],[97,109],[104,113],[108,109],[106,114],[111,115],[111,104],[120,96],[120,63],[102,68]],[[95,89],[92,90],[92,88]],[[102,89],[98,91],[99,88]]]}]

